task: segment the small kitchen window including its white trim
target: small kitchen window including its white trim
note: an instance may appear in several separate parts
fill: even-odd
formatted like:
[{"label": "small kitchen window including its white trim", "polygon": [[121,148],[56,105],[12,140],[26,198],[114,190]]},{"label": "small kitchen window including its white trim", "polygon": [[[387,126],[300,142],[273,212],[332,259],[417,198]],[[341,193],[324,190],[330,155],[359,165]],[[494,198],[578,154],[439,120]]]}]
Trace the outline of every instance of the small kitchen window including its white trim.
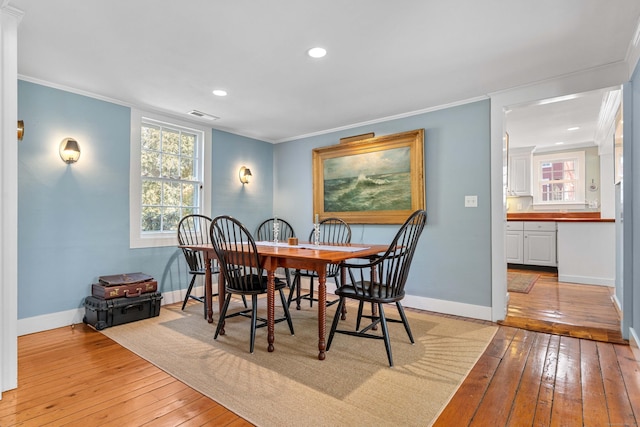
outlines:
[{"label": "small kitchen window including its white trim", "polygon": [[534,156],[533,203],[584,204],[584,151]]}]

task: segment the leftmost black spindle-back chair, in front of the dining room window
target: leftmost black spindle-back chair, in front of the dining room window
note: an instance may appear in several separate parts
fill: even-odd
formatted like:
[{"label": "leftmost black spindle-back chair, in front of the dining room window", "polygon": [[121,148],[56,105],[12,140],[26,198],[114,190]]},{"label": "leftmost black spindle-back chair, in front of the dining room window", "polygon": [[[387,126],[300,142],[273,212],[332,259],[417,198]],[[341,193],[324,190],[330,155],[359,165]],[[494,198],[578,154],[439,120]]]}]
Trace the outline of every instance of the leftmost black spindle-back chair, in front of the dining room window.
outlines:
[{"label": "leftmost black spindle-back chair, in front of the dining room window", "polygon": [[[209,245],[209,227],[211,226],[211,218],[206,215],[187,215],[183,217],[178,223],[178,244],[179,245]],[[204,262],[204,252],[202,251],[194,251],[187,248],[182,248],[182,253],[184,254],[184,258],[187,261],[187,266],[189,267],[189,274],[191,275],[191,281],[189,282],[189,287],[187,288],[187,293],[184,297],[184,301],[182,302],[182,309],[187,305],[187,301],[189,299],[194,299],[204,304],[204,313],[206,317],[207,313],[207,301],[205,301],[204,296],[196,296],[192,295],[191,292],[193,290],[193,285],[196,282],[196,278],[198,276],[204,277],[205,274],[205,262]],[[218,274],[219,270],[215,262],[211,263],[211,274]],[[213,294],[215,297],[218,294]],[[211,301],[209,301],[211,303]]]}]

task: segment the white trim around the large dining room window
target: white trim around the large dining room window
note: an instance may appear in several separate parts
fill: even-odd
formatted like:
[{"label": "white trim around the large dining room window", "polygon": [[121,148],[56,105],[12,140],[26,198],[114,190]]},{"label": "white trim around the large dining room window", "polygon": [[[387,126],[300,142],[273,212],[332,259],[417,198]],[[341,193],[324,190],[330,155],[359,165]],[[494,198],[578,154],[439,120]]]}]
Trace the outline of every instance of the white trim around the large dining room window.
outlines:
[{"label": "white trim around the large dining room window", "polygon": [[202,171],[203,188],[200,213],[211,215],[211,129],[191,122],[161,116],[155,113],[131,109],[131,135],[129,156],[129,246],[130,248],[152,248],[176,246],[176,233],[145,233],[140,230],[140,215],[142,198],[142,177],[140,176],[140,131],[142,119],[150,119],[163,124],[177,125],[200,134],[203,138]]}]

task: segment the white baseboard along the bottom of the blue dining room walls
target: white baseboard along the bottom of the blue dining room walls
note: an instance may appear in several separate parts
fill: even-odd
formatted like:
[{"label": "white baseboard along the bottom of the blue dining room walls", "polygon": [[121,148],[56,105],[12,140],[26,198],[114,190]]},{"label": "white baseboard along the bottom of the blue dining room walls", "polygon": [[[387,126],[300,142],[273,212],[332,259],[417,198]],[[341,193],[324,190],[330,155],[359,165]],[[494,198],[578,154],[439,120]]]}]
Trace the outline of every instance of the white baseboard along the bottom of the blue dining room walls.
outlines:
[{"label": "white baseboard along the bottom of the blue dining room walls", "polygon": [[[308,280],[301,282],[303,289],[309,289]],[[333,295],[336,284],[327,280],[327,294]],[[174,304],[184,300],[184,289],[163,292],[162,305]],[[192,295],[203,295],[203,286],[194,286]],[[404,298],[403,305],[407,308],[417,308],[437,313],[451,314],[455,316],[470,317],[473,319],[491,320],[491,307],[482,307],[472,304],[464,304],[452,301],[437,300],[413,295]],[[82,323],[84,317],[84,307],[74,310],[61,311],[58,313],[43,314],[41,316],[18,319],[18,336],[33,334],[36,332],[48,331],[50,329],[71,326]],[[640,360],[640,359],[639,359]]]}]

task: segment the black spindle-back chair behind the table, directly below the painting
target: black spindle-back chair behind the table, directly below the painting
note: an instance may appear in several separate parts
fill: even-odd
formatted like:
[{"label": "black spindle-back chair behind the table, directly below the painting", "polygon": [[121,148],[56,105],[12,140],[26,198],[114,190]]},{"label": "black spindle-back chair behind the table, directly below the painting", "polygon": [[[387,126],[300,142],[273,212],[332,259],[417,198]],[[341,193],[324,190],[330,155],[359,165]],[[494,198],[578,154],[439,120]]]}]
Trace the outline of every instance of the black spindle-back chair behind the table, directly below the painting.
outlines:
[{"label": "black spindle-back chair behind the table, directly below the painting", "polygon": [[[326,218],[319,223],[320,225],[320,244],[322,243],[332,243],[332,244],[340,244],[340,243],[350,243],[351,242],[351,227],[344,220],[340,218]],[[314,231],[311,230],[309,233],[309,242],[314,241]],[[340,285],[340,265],[339,264],[329,264],[327,266],[327,278],[333,278],[336,282],[336,287]],[[302,277],[309,278],[309,293],[301,294],[301,285],[300,280]],[[318,301],[318,299],[314,295],[314,286],[313,281],[318,277],[318,273],[313,270],[296,270],[293,285],[289,291],[289,304],[293,299],[293,293],[296,293],[296,310],[300,310],[300,301],[303,299],[309,300],[309,305],[313,307],[313,302]],[[337,303],[338,300],[327,301],[327,307]]]}]

